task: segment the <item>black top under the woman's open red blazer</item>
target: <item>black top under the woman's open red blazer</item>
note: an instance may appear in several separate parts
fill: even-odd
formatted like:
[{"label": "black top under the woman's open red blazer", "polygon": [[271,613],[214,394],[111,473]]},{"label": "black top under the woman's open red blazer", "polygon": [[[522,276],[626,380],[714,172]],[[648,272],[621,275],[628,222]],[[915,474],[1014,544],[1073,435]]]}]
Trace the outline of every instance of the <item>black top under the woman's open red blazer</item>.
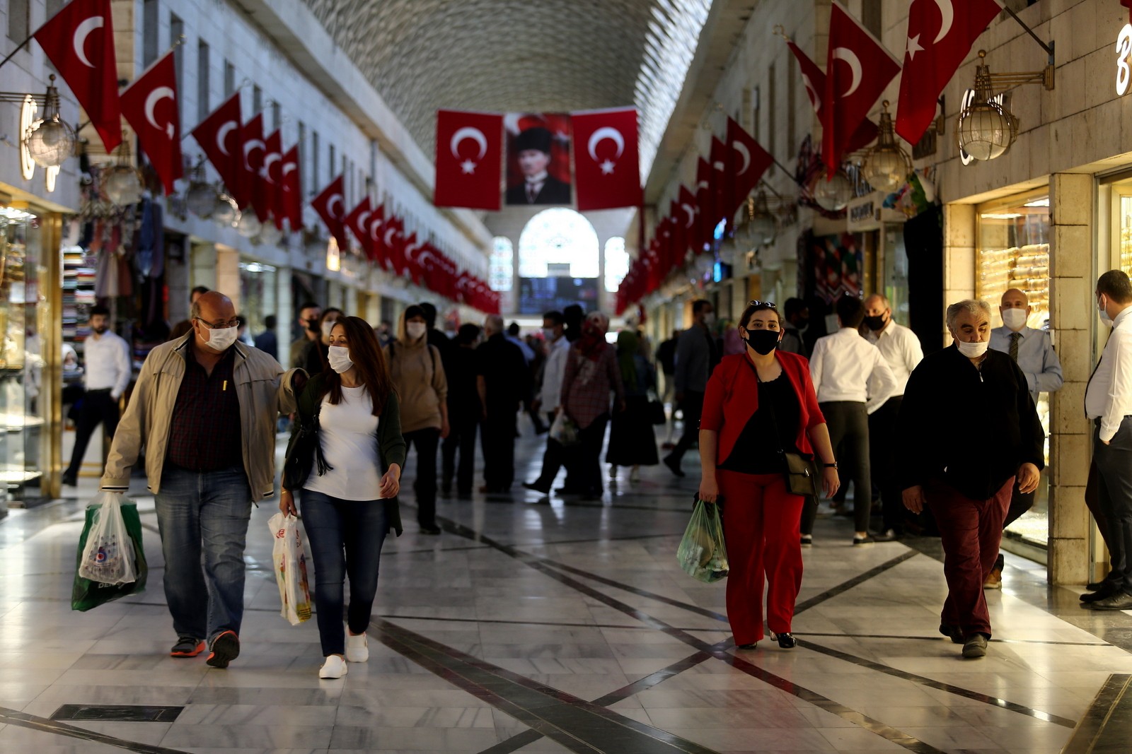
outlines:
[{"label": "black top under the woman's open red blazer", "polygon": [[782,474],[786,459],[779,451],[798,452],[795,440],[800,421],[801,407],[786,371],[770,382],[760,380],[758,408],[719,468],[741,474]]}]

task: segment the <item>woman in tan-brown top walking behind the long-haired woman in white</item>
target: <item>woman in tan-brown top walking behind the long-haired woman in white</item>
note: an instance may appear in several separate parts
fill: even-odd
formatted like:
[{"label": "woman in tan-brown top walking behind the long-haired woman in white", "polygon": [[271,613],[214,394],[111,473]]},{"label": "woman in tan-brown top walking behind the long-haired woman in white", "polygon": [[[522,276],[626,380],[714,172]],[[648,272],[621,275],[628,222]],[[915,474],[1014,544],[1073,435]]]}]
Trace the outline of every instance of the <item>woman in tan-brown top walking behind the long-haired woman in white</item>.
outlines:
[{"label": "woman in tan-brown top walking behind the long-haired woman in white", "polygon": [[401,397],[401,431],[405,444],[417,449],[417,522],[421,534],[437,535],[436,454],[443,437],[448,436],[448,381],[440,352],[428,345],[424,310],[405,309],[397,328],[397,339],[384,348],[393,385]]}]

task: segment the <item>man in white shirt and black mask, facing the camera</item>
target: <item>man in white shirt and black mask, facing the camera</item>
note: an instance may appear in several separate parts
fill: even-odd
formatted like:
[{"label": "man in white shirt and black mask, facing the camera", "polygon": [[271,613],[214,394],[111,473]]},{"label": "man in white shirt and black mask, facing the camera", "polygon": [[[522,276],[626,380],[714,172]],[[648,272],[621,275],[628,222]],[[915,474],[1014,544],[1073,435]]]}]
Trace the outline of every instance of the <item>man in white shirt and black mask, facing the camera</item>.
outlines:
[{"label": "man in white shirt and black mask, facing the camera", "polygon": [[889,541],[903,534],[904,503],[900,482],[897,477],[897,417],[904,398],[908,375],[924,358],[916,333],[897,324],[892,319],[892,304],[878,293],[865,300],[865,339],[877,347],[884,363],[892,371],[897,387],[884,405],[868,417],[868,453],[873,468],[873,484],[881,493],[881,526],[883,534],[876,539]]}]

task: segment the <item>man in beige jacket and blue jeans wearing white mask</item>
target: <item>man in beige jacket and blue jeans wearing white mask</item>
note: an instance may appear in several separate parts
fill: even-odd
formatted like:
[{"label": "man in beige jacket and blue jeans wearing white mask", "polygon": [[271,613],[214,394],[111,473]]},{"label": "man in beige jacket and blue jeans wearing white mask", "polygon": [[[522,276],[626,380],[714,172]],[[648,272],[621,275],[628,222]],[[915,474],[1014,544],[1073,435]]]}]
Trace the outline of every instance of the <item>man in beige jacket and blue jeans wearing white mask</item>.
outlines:
[{"label": "man in beige jacket and blue jeans wearing white mask", "polygon": [[251,503],[275,494],[275,421],[295,409],[302,370],[237,343],[235,307],[215,291],[192,331],[149,352],[114,434],[102,488],[126,492],[145,443],[165,558],[173,657],[226,668],[240,653],[243,547]]}]

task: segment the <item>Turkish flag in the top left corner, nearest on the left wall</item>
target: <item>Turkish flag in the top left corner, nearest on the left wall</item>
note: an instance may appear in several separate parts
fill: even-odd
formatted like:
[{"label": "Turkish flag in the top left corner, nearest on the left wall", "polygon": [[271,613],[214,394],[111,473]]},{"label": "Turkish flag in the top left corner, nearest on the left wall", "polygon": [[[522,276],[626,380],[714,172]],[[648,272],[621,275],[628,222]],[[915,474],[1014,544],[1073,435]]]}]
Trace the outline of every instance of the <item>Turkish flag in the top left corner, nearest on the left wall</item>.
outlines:
[{"label": "Turkish flag in the top left corner, nearest on the left wall", "polygon": [[122,142],[110,0],[71,0],[33,36],[83,105],[109,154]]}]

